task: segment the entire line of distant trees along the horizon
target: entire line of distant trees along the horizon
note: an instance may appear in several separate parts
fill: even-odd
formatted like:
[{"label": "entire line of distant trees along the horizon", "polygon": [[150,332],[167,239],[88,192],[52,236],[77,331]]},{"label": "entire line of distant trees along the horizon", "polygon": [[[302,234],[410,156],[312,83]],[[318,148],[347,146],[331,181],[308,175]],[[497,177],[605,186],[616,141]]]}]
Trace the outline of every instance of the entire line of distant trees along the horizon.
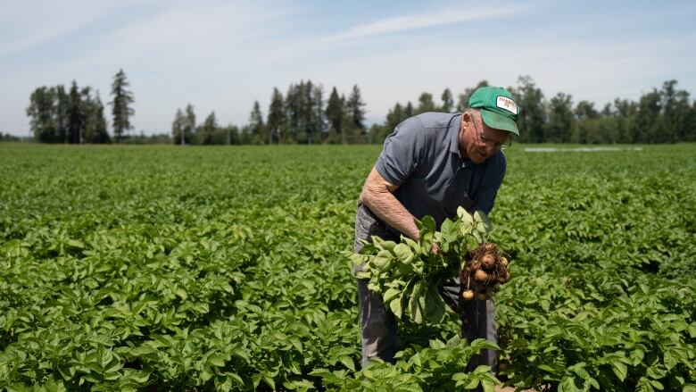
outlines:
[{"label": "entire line of distant trees along the horizon", "polygon": [[[291,84],[285,96],[274,88],[264,114],[258,101],[253,103],[249,120],[241,127],[218,123],[215,113],[196,121],[193,104],[177,109],[171,133],[145,136],[128,135],[133,129],[134,94],[121,70],[112,82],[112,133],[98,93],[80,88],[75,81],[70,90],[62,85],[34,90],[29,99],[33,138],[41,143],[171,143],[177,145],[246,144],[381,144],[401,121],[418,113],[461,112],[475,87],[454,96],[446,88],[435,101],[433,94],[422,93],[418,102],[396,103],[382,123],[366,126],[365,102],[355,85],[346,96],[332,88],[328,96],[320,84],[301,80]],[[594,103],[575,103],[569,94],[547,98],[529,76],[518,78],[518,85],[507,87],[516,97],[521,112],[518,118],[523,143],[676,143],[696,141],[696,101],[677,88],[676,80],[667,80],[660,89],[652,88],[638,101],[616,98],[596,107]],[[13,139],[13,138],[8,138]]]}]

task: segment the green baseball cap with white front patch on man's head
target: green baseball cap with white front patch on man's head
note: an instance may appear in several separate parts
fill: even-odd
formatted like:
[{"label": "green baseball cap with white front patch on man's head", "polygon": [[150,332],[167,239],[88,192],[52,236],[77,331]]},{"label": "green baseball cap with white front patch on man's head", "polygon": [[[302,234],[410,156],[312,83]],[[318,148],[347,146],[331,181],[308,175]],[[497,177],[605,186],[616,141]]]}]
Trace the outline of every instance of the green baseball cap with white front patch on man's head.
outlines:
[{"label": "green baseball cap with white front patch on man's head", "polygon": [[481,118],[485,125],[493,129],[502,129],[519,136],[518,120],[519,107],[510,91],[505,88],[486,86],[476,88],[468,98],[468,107],[480,109]]}]

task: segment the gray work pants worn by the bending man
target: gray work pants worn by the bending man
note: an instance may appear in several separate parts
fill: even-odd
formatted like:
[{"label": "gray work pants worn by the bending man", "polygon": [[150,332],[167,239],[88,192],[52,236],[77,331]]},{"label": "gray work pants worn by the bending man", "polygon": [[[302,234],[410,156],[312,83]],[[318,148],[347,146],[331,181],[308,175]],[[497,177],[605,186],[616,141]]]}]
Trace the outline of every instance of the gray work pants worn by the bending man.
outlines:
[{"label": "gray work pants worn by the bending man", "polygon": [[[353,250],[362,250],[360,239],[371,241],[372,236],[393,241],[399,237],[393,230],[369,211],[364,205],[358,205],[355,218],[355,243]],[[354,271],[360,271],[356,267]],[[385,362],[394,363],[396,354],[396,318],[394,313],[385,308],[382,296],[368,288],[368,281],[358,280],[358,300],[360,305],[360,330],[362,333],[362,365],[369,363],[369,358],[377,357]],[[477,299],[465,301],[460,296],[459,277],[447,280],[440,288],[440,296],[454,312],[460,315],[461,336],[469,342],[476,338],[486,338],[493,343],[498,342],[495,331],[495,308],[491,298],[480,301]],[[493,350],[482,350],[469,363],[468,370],[486,364],[495,372],[496,356]]]}]

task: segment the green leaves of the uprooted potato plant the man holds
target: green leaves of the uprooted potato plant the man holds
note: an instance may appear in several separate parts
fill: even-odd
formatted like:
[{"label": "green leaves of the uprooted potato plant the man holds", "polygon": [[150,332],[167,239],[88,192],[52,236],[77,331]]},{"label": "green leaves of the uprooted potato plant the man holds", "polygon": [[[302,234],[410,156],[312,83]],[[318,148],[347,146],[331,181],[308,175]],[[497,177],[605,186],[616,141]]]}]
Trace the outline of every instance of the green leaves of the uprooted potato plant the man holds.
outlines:
[{"label": "green leaves of the uprooted potato plant the man holds", "polygon": [[[398,319],[406,315],[417,324],[437,323],[445,311],[438,288],[445,280],[459,276],[466,263],[464,255],[485,241],[493,225],[485,213],[476,211],[472,217],[461,207],[454,221],[443,221],[441,231],[435,230],[431,216],[416,221],[416,225],[418,242],[403,236],[399,244],[373,237],[360,254],[346,254],[360,266],[356,276],[369,280],[368,287],[382,295],[385,306]],[[439,248],[437,253],[432,252],[433,246]]]}]

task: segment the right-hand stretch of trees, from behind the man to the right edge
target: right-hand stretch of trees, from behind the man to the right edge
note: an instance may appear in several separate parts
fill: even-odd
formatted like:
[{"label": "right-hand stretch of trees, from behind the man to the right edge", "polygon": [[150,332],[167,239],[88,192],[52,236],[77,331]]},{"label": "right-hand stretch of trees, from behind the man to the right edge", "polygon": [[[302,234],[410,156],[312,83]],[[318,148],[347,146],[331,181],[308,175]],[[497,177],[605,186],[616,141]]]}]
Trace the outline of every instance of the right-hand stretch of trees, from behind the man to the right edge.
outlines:
[{"label": "right-hand stretch of trees, from behind the man to the right edge", "polygon": [[[518,85],[508,87],[521,111],[518,116],[524,143],[675,143],[696,141],[696,101],[689,93],[676,88],[676,80],[667,80],[662,88],[653,88],[638,101],[616,98],[601,108],[582,100],[574,104],[573,96],[559,92],[547,99],[529,76],[520,76]],[[373,125],[369,132],[376,142],[384,141],[396,125],[418,113],[461,112],[476,88],[488,86],[486,80],[458,95],[446,88],[436,104],[433,95],[422,93],[418,104],[394,104],[385,122]]]}]

